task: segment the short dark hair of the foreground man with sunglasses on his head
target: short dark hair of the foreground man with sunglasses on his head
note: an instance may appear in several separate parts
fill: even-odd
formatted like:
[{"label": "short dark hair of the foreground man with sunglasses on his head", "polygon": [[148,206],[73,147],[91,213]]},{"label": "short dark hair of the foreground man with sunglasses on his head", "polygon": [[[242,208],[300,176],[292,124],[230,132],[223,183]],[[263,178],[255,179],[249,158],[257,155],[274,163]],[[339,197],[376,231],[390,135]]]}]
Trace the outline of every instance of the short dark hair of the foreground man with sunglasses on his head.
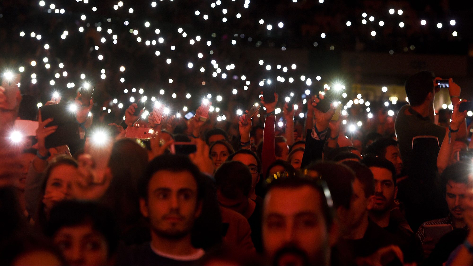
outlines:
[{"label": "short dark hair of the foreground man with sunglasses on his head", "polygon": [[312,177],[308,177],[308,176],[293,177],[293,178],[280,178],[271,183],[271,185],[268,187],[267,193],[270,193],[271,190],[276,189],[276,188],[280,188],[280,189],[300,188],[304,186],[309,186],[309,187],[314,188],[318,192],[320,201],[322,203],[321,207],[324,213],[325,222],[327,223],[328,226],[330,226],[333,224],[333,209],[332,207],[329,206],[328,201],[332,200],[331,199],[332,196],[330,196],[330,199],[327,200],[327,196],[325,195],[325,192],[324,192],[324,185],[322,185],[321,182],[324,182],[324,181],[318,180]]}]

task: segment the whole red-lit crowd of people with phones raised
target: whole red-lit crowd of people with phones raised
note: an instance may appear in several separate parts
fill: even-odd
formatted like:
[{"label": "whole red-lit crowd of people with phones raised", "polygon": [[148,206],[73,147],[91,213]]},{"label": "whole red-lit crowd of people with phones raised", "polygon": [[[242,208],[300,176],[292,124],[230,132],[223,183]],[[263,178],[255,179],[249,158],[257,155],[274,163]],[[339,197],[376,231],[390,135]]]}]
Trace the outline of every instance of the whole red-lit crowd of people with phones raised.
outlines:
[{"label": "whole red-lit crowd of people with phones raised", "polygon": [[[105,126],[79,94],[73,139],[46,119],[64,101],[0,87],[0,264],[473,265],[466,100],[450,79],[436,124],[438,79],[413,74],[395,121],[380,111],[361,135],[319,110],[325,93],[303,124],[275,93],[226,129],[205,107],[178,120],[136,103]],[[33,136],[12,137],[18,120]]]}]

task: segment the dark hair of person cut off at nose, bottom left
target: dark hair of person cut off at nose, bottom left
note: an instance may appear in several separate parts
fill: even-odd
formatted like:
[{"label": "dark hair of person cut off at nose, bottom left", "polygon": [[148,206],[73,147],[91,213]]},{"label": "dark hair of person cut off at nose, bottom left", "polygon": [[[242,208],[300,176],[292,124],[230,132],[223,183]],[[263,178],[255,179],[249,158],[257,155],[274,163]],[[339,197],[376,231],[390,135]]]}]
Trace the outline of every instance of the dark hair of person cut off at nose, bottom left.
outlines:
[{"label": "dark hair of person cut off at nose, bottom left", "polygon": [[61,201],[53,207],[47,233],[53,237],[62,227],[90,224],[107,241],[108,256],[112,256],[118,246],[118,229],[112,212],[95,202]]}]

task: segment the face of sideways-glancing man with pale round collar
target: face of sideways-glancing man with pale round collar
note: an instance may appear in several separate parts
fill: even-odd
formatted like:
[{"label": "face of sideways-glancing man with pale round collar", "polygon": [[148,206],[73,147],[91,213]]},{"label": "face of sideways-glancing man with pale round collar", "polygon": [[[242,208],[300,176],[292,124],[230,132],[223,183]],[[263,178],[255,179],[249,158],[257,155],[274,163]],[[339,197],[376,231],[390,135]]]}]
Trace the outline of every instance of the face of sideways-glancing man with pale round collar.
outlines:
[{"label": "face of sideways-glancing man with pale round collar", "polygon": [[140,199],[140,210],[155,234],[170,239],[186,237],[201,212],[195,178],[187,171],[156,172],[149,180],[148,201]]}]

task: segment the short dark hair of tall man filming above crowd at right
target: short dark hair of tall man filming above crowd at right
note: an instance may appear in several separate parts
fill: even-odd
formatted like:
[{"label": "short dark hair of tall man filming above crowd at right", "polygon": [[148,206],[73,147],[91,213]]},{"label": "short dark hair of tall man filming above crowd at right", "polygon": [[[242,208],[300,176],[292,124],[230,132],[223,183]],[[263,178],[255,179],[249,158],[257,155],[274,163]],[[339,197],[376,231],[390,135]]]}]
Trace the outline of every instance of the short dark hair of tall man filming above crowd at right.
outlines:
[{"label": "short dark hair of tall man filming above crowd at right", "polygon": [[435,74],[431,71],[420,71],[406,80],[406,95],[411,106],[420,106],[424,103],[429,92],[434,91]]}]

